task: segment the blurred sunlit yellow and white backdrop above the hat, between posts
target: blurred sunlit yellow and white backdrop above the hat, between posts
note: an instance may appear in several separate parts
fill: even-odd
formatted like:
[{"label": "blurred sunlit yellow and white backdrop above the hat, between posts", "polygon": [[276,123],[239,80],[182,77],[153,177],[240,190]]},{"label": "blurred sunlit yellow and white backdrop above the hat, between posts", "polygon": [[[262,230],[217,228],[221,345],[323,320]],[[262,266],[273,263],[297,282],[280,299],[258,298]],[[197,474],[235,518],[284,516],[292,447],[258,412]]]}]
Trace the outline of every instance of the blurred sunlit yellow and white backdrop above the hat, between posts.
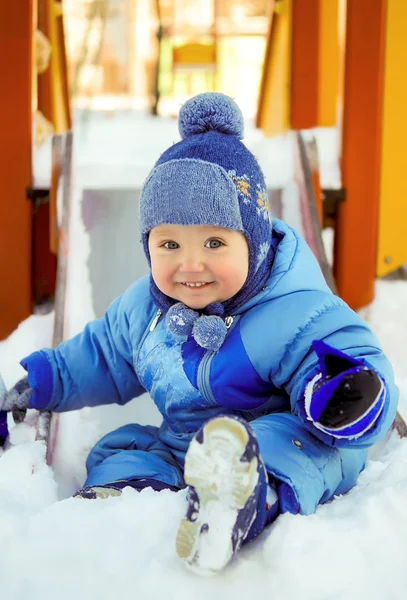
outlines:
[{"label": "blurred sunlit yellow and white backdrop above the hat, between posts", "polygon": [[253,117],[270,0],[65,0],[68,78],[76,106],[177,114],[222,90]]}]

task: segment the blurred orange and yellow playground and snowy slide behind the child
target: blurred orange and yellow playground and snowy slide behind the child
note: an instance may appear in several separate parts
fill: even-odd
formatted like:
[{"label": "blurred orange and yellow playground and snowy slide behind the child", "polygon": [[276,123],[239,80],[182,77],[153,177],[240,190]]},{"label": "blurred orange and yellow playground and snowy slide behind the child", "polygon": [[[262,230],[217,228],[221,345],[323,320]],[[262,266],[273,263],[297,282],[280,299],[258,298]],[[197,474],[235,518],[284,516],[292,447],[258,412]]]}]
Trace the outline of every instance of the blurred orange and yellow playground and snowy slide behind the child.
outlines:
[{"label": "blurred orange and yellow playground and snowy slide behind the child", "polygon": [[373,323],[379,282],[406,279],[406,27],[401,0],[2,2],[0,340],[53,312],[59,343],[147,273],[139,192],[205,91],[236,100],[273,216]]}]

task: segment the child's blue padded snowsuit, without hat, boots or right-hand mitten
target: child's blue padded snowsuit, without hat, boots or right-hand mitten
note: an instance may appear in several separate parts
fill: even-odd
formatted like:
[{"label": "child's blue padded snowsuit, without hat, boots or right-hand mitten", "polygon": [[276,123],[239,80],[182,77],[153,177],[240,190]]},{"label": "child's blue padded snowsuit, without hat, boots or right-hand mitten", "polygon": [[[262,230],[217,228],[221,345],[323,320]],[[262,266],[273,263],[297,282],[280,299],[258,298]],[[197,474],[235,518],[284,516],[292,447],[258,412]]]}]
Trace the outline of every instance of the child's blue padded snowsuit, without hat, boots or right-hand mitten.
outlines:
[{"label": "child's blue padded snowsuit, without hat, boots or right-hand mitten", "polygon": [[[129,424],[106,435],[89,455],[86,485],[146,477],[182,487],[192,436],[223,414],[250,421],[268,473],[290,486],[302,514],[355,485],[367,448],[395,417],[392,369],[365,322],[331,293],[304,240],[277,219],[273,236],[267,285],[231,315],[218,352],[168,331],[146,277],[83,333],[23,361],[30,384],[42,390],[34,391],[31,407],[125,404],[147,390],[162,414],[159,428]],[[335,439],[306,417],[304,389],[319,373],[313,340],[364,357],[385,381],[381,416],[358,439]]]}]

